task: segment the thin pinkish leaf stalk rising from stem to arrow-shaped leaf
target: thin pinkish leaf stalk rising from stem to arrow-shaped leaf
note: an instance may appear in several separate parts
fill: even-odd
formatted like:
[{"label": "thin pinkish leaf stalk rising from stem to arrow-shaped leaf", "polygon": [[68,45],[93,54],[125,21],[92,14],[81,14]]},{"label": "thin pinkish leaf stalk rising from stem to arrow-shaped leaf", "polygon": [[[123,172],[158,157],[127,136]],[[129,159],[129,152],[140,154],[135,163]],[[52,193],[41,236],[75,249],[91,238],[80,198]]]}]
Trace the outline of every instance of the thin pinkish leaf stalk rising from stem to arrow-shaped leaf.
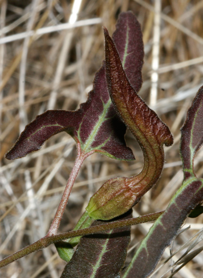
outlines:
[{"label": "thin pinkish leaf stalk rising from stem to arrow-shaped leaf", "polygon": [[78,172],[80,170],[80,167],[81,167],[83,161],[85,160],[85,158],[90,154],[90,153],[85,154],[85,153],[81,152],[81,148],[80,148],[79,143],[77,145],[77,149],[78,149],[78,155],[76,157],[74,167],[71,171],[70,177],[69,177],[69,179],[67,181],[67,184],[65,186],[65,190],[63,191],[61,201],[58,205],[58,208],[57,208],[57,211],[55,213],[54,219],[51,223],[51,226],[50,226],[49,231],[48,231],[46,236],[55,235],[57,233],[58,227],[60,225],[61,218],[62,218],[64,210],[66,208],[67,201],[69,200],[69,196],[71,194],[71,190],[72,190],[73,185],[75,183],[75,180],[76,180],[76,177],[77,177]]}]

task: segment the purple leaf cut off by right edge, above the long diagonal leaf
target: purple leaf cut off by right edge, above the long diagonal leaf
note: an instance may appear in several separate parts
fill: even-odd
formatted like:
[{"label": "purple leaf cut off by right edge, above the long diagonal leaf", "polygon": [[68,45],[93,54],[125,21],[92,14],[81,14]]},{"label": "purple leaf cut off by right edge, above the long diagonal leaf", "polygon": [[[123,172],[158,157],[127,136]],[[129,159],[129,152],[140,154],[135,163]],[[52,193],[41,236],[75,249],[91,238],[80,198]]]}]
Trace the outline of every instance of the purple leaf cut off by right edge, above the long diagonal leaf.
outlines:
[{"label": "purple leaf cut off by right edge, above the long diagonal leaf", "polygon": [[197,150],[203,144],[203,86],[197,92],[187,112],[186,121],[181,128],[180,151],[186,177],[194,174],[193,160]]}]

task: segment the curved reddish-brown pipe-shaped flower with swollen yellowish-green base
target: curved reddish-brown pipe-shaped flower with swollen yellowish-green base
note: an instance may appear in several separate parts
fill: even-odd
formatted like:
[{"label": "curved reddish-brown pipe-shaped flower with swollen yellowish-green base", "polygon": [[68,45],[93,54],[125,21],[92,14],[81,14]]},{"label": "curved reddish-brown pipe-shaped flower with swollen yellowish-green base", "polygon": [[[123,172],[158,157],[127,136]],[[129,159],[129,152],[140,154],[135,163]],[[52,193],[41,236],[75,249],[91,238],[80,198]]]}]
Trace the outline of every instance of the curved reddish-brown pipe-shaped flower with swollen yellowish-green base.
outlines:
[{"label": "curved reddish-brown pipe-shaped flower with swollen yellowish-green base", "polygon": [[123,214],[138,203],[156,183],[164,163],[163,144],[172,145],[173,136],[130,85],[114,42],[107,29],[104,29],[104,32],[109,93],[122,120],[137,138],[144,154],[144,168],[139,175],[110,179],[91,197],[86,208],[90,217],[108,220]]}]

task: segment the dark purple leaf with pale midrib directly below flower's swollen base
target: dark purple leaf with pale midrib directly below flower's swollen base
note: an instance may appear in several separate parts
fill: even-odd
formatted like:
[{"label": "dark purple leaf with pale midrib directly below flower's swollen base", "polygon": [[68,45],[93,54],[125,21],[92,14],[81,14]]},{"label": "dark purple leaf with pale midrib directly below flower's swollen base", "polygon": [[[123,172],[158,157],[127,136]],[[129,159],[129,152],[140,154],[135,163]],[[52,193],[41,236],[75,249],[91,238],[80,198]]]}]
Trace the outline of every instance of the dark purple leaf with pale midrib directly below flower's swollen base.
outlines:
[{"label": "dark purple leaf with pale midrib directly below flower's swollen base", "polygon": [[[131,217],[132,210],[118,219]],[[104,222],[94,221],[92,226],[101,223]],[[66,264],[61,278],[118,277],[125,262],[129,242],[129,227],[83,236],[71,261]]]}]

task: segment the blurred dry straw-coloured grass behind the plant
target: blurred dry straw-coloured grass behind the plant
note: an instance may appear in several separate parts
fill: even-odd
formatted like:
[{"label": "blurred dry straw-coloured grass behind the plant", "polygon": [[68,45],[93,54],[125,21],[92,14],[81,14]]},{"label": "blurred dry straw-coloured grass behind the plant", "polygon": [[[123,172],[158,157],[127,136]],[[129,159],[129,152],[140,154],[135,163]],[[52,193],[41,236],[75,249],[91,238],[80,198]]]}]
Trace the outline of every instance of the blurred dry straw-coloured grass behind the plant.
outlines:
[{"label": "blurred dry straw-coloured grass behind the plant", "polygon": [[[156,6],[152,6],[154,2]],[[132,10],[143,28],[145,64],[140,95],[171,128],[175,138],[173,146],[166,149],[161,179],[134,208],[134,216],[165,209],[183,178],[179,155],[180,127],[192,98],[203,83],[203,1],[83,0],[78,15],[81,24],[65,30],[61,28],[70,27],[64,24],[69,22],[71,1],[1,0],[0,5],[2,257],[46,234],[72,169],[76,149],[73,139],[62,133],[51,138],[40,151],[20,160],[6,161],[4,154],[36,115],[50,108],[73,110],[86,100],[93,74],[104,59],[101,26],[104,24],[112,33],[121,11]],[[56,30],[55,26],[59,24],[63,25]],[[44,27],[50,27],[51,32],[47,33],[48,29],[42,29]],[[36,31],[34,36],[27,36],[30,30]],[[154,40],[158,47],[153,50]],[[157,69],[158,73],[155,84],[152,69]],[[120,162],[98,154],[85,161],[63,216],[61,232],[74,227],[89,197],[109,177],[131,176],[142,169],[143,158],[138,144],[129,133],[126,140],[134,151],[136,162]],[[195,171],[201,177],[202,150],[195,163]],[[165,250],[161,262],[201,231],[202,220],[203,216],[187,220],[184,227],[190,225],[190,228]],[[149,224],[132,227],[127,261],[148,229]],[[195,248],[202,246],[200,240]],[[152,277],[169,277],[171,272],[163,274],[164,271],[186,250],[184,247]],[[175,277],[202,277],[202,263],[200,253]],[[3,268],[1,277],[57,278],[63,267],[64,262],[51,246]]]}]

